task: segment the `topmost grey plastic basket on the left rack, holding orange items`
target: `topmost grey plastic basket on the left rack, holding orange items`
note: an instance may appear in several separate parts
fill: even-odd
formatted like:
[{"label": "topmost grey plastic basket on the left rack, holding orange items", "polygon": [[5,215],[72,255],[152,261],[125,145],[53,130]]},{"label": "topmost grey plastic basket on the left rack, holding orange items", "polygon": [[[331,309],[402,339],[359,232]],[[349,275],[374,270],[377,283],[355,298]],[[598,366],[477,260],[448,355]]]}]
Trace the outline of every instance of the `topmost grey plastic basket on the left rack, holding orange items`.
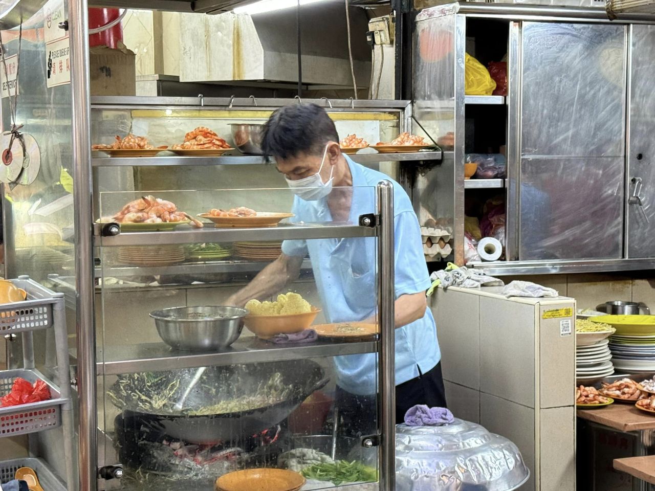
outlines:
[{"label": "topmost grey plastic basket on the left rack, holding orange items", "polygon": [[0,305],[0,335],[8,331],[16,333],[52,327],[52,304],[60,301],[64,295],[54,293],[28,276],[19,276],[10,282],[24,289],[28,299]]}]

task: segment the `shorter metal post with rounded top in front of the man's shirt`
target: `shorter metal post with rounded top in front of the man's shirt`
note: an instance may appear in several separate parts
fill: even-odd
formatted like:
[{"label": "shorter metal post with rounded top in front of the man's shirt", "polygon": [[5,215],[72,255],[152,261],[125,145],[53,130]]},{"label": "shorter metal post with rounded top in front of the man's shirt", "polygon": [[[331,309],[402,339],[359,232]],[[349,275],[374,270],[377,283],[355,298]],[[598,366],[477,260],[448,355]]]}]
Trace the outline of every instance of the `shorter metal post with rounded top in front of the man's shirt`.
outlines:
[{"label": "shorter metal post with rounded top in front of the man's shirt", "polygon": [[389,181],[377,185],[378,275],[380,343],[378,352],[379,426],[382,441],[379,452],[381,491],[396,488],[396,321],[394,302],[394,187]]}]

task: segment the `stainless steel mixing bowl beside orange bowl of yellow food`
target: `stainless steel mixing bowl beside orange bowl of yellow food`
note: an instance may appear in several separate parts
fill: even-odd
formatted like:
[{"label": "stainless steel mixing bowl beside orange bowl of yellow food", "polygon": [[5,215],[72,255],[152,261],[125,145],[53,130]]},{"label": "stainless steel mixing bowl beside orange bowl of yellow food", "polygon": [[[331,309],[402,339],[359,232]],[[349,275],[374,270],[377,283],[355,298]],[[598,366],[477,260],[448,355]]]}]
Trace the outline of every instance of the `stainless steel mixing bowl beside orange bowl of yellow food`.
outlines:
[{"label": "stainless steel mixing bowl beside orange bowl of yellow food", "polygon": [[237,307],[173,307],[150,312],[160,338],[171,348],[227,348],[241,335],[247,310]]}]

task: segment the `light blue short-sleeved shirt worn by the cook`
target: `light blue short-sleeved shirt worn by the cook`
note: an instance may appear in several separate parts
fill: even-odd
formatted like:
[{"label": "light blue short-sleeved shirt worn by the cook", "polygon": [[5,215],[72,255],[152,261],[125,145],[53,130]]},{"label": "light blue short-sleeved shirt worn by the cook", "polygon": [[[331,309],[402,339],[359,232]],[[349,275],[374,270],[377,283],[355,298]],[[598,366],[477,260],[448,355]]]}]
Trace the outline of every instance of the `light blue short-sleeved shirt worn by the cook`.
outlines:
[{"label": "light blue short-sleeved shirt worn by the cook", "polygon": [[[358,217],[375,212],[375,186],[384,179],[381,172],[356,164],[345,156],[352,173],[351,223]],[[394,259],[396,299],[419,293],[430,287],[430,276],[423,255],[421,228],[409,196],[398,183],[394,185]],[[295,196],[293,222],[332,221],[326,198],[305,201]],[[314,280],[328,322],[360,321],[375,314],[377,289],[377,247],[373,237],[285,240],[282,252],[289,256],[309,253]],[[396,329],[396,385],[432,370],[441,359],[436,325],[432,312]],[[377,387],[376,355],[335,357],[337,384],[357,395],[371,395]]]}]

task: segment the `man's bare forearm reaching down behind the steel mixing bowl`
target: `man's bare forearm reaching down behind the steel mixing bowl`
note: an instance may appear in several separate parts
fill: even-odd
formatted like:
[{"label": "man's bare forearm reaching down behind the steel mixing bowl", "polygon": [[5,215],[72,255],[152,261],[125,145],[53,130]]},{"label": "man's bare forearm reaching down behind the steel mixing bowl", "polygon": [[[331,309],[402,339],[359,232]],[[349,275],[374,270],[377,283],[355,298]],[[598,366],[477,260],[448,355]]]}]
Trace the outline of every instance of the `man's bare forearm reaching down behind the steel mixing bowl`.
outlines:
[{"label": "man's bare forearm reaching down behind the steel mixing bowl", "polygon": [[293,282],[300,276],[302,264],[302,256],[288,256],[283,253],[261,270],[252,282],[229,297],[225,303],[242,307],[248,300],[263,300],[271,297],[284,288],[284,285]]}]

